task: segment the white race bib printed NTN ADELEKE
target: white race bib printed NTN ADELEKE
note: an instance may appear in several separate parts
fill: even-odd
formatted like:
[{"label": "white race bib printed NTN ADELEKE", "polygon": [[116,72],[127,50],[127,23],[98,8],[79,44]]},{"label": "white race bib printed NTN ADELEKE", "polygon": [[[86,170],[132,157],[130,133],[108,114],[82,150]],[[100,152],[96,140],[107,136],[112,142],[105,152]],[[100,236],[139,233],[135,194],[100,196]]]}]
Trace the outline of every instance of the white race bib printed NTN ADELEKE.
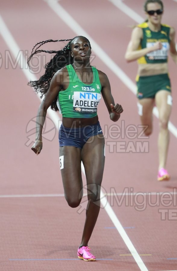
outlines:
[{"label": "white race bib printed NTN ADELEKE", "polygon": [[73,110],[81,113],[95,113],[100,100],[100,93],[74,92]]}]

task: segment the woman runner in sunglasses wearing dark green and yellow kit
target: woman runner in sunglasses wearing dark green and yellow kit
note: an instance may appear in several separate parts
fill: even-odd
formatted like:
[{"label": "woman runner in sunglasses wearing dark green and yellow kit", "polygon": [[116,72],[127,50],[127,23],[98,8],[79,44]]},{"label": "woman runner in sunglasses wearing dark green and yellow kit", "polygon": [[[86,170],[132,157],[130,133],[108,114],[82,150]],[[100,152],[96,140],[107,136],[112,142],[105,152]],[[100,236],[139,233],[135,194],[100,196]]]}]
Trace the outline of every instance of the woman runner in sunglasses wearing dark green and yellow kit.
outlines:
[{"label": "woman runner in sunglasses wearing dark green and yellow kit", "polygon": [[145,135],[152,133],[152,111],[154,103],[159,112],[159,169],[158,181],[168,181],[166,170],[169,146],[168,121],[172,109],[171,85],[168,76],[168,51],[177,64],[175,30],[162,24],[163,2],[147,0],[144,4],[147,20],[137,25],[125,54],[128,62],[137,60],[138,113],[143,125],[148,126]]}]

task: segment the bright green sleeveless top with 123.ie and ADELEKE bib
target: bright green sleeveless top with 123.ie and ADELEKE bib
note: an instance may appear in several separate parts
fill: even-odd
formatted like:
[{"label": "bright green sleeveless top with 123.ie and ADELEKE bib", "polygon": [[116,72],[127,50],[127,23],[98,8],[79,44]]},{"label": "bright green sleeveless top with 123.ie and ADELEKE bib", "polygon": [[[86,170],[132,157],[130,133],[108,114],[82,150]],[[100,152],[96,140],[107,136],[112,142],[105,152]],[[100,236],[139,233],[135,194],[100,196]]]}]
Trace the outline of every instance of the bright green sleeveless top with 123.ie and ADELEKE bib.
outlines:
[{"label": "bright green sleeveless top with 123.ie and ADELEKE bib", "polygon": [[57,106],[63,117],[92,118],[97,116],[97,106],[101,99],[101,83],[98,71],[93,71],[93,83],[84,84],[77,76],[73,66],[67,65],[69,86],[58,93]]}]

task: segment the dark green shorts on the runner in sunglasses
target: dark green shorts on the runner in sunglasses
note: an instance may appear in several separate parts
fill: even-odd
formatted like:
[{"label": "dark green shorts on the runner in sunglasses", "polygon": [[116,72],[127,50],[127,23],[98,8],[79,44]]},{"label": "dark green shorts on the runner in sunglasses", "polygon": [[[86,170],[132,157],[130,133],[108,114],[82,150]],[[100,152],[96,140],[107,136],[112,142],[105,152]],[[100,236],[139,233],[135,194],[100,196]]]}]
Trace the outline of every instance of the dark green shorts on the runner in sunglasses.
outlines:
[{"label": "dark green shorts on the runner in sunglasses", "polygon": [[168,73],[137,78],[137,98],[155,98],[160,90],[171,92],[171,83]]}]

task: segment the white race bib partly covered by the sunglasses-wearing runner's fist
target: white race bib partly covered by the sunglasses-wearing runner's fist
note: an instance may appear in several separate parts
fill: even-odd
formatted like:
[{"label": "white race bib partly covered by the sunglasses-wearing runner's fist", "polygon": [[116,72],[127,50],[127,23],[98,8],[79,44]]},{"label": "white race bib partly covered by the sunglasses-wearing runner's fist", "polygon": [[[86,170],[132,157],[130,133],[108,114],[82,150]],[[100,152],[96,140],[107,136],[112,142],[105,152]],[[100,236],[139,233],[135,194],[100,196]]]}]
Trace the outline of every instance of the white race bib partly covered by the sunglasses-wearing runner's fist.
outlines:
[{"label": "white race bib partly covered by the sunglasses-wearing runner's fist", "polygon": [[[146,47],[150,48],[155,44],[155,42],[147,42]],[[168,42],[162,42],[162,49],[152,51],[147,54],[147,57],[149,59],[167,59],[168,57],[168,50],[169,50],[169,43]]]}]

